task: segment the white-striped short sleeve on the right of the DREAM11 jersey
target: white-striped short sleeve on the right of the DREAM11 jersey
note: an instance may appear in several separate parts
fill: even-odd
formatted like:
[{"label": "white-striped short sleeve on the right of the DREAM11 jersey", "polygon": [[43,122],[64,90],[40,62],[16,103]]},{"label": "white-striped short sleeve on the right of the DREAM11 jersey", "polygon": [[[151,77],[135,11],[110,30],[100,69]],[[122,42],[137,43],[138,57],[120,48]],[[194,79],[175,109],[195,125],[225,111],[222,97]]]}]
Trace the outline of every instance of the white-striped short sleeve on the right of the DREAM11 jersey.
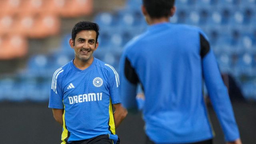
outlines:
[{"label": "white-striped short sleeve on the right of the DREAM11 jersey", "polygon": [[112,104],[118,104],[121,102],[120,100],[120,95],[119,95],[119,86],[120,86],[120,79],[119,79],[119,75],[116,72],[116,70],[110,66],[109,64],[105,64],[106,66],[109,67],[109,91],[110,91],[110,98],[112,101]]}]

